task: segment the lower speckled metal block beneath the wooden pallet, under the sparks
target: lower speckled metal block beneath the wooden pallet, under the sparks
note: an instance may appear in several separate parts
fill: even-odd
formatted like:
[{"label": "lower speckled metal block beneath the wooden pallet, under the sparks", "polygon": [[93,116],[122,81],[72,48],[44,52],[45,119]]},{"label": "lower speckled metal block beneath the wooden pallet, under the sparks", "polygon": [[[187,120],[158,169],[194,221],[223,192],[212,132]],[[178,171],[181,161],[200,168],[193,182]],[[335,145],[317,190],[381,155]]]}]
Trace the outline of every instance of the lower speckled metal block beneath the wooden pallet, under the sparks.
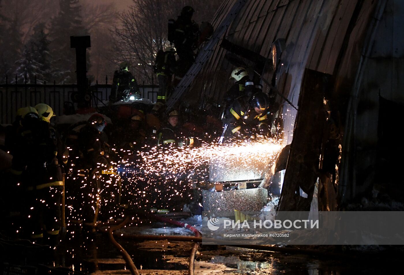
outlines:
[{"label": "lower speckled metal block beneath the wooden pallet, under the sparks", "polygon": [[202,190],[204,211],[260,211],[267,204],[268,190],[252,188],[212,192]]}]

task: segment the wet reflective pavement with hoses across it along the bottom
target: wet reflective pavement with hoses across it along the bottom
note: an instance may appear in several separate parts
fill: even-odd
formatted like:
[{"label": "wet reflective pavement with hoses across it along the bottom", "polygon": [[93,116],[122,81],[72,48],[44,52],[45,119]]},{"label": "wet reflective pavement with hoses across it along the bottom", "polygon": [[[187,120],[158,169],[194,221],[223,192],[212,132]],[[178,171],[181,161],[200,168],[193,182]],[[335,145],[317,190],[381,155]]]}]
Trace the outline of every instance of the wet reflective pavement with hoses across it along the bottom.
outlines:
[{"label": "wet reflective pavement with hoses across it along the bottom", "polygon": [[[139,228],[127,227],[123,233],[167,232],[185,235],[176,227],[162,223],[149,223]],[[127,250],[141,274],[187,274],[192,243],[144,241],[135,242],[119,238],[116,240]],[[70,235],[69,235],[70,234]],[[70,232],[67,239],[55,249],[20,251],[20,260],[9,254],[5,259],[20,265],[67,267],[71,274],[130,274],[126,263],[109,241],[107,234],[82,235]],[[70,238],[74,234],[74,238]],[[388,254],[387,254],[388,253]],[[326,253],[324,253],[326,255]],[[391,255],[391,256],[387,256]],[[26,258],[26,261],[22,261]],[[229,246],[200,246],[196,255],[195,274],[398,274],[402,254],[379,252],[367,258],[330,258],[306,255],[287,255],[274,252],[260,252]],[[60,273],[67,274],[67,273]]]}]

